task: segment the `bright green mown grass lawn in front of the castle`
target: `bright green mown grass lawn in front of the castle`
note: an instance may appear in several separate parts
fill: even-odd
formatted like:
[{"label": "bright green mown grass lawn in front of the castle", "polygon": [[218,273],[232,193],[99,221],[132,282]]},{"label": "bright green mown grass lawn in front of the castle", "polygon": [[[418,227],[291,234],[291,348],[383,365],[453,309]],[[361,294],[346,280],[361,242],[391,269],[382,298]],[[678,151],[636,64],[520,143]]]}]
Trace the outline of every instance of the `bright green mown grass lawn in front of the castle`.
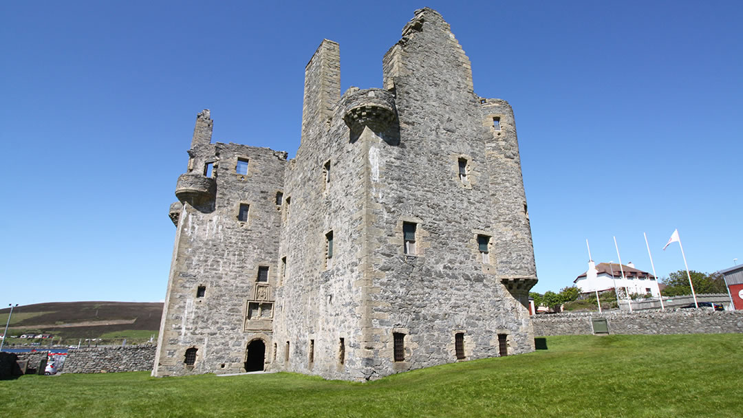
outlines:
[{"label": "bright green mown grass lawn in front of the castle", "polygon": [[376,382],[149,373],[0,382],[2,417],[742,417],[743,334],[555,336]]}]

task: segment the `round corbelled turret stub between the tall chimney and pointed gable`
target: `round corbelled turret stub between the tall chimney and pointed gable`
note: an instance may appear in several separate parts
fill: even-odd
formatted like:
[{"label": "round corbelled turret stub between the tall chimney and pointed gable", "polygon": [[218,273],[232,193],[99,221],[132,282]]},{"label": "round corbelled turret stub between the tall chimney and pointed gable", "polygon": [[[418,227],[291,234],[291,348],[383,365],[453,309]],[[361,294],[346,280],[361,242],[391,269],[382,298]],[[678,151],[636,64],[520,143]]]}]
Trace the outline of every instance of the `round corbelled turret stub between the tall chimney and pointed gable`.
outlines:
[{"label": "round corbelled turret stub between the tall chimney and pointed gable", "polygon": [[397,118],[395,96],[380,88],[348,89],[343,94],[343,120],[351,131],[368,126],[374,132],[383,132]]}]

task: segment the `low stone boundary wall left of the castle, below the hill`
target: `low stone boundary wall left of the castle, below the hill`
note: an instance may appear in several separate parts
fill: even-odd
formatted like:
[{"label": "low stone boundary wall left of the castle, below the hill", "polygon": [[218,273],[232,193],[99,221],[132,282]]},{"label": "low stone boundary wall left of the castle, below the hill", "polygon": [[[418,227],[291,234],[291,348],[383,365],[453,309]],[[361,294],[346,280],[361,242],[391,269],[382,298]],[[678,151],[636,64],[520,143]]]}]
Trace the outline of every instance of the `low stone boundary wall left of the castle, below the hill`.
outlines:
[{"label": "low stone boundary wall left of the castle, below the hill", "polygon": [[[152,370],[155,363],[155,345],[129,347],[90,347],[68,350],[62,373],[115,373],[120,371]],[[18,353],[19,360],[28,360],[28,366],[37,368],[48,351]]]}]

